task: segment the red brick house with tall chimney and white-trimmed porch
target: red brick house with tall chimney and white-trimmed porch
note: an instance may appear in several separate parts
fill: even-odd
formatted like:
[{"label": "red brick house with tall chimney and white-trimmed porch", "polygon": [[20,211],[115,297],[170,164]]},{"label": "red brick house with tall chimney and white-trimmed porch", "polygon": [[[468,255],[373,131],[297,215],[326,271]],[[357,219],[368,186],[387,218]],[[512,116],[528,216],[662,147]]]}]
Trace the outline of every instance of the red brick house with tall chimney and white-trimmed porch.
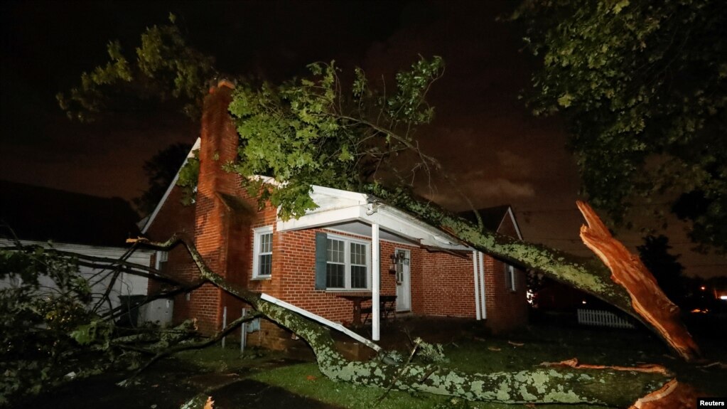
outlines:
[{"label": "red brick house with tall chimney and white-trimmed porch", "polygon": [[[526,322],[522,271],[367,194],[313,186],[318,208],[297,220],[282,221],[270,206],[258,210],[240,187],[240,176],[220,167],[236,158],[238,146],[227,112],[230,88],[224,83],[213,87],[205,101],[201,138],[193,147],[200,159],[196,202],[183,206],[180,188],[172,183],[144,222],[143,234],[164,240],[177,231],[193,233],[199,252],[218,274],[334,322],[353,319],[352,302],[342,297],[376,293],[396,295],[400,317],[466,317],[483,320],[497,332]],[[483,215],[492,229],[520,237],[510,207]],[[184,248],[161,257],[167,272],[195,276]],[[374,277],[380,278],[374,282]],[[222,327],[225,307],[230,322],[244,305],[204,285],[174,300],[174,319],[196,317],[200,329],[212,333]],[[278,349],[291,342],[291,334],[276,325],[262,322],[261,327],[249,342]]]}]

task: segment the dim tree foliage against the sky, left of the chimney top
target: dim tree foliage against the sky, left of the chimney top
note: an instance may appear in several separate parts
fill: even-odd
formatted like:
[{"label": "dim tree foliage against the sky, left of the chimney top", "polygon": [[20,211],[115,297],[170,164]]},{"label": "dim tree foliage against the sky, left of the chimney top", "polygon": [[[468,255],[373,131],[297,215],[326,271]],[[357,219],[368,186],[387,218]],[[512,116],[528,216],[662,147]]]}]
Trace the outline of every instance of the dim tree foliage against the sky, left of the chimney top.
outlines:
[{"label": "dim tree foliage against the sky, left of the chimney top", "polygon": [[147,28],[132,54],[109,41],[108,62],[81,74],[78,87],[56,95],[68,118],[90,122],[108,111],[140,112],[172,101],[198,119],[205,84],[217,75],[214,58],[190,47],[175,21],[170,14],[169,24]]}]

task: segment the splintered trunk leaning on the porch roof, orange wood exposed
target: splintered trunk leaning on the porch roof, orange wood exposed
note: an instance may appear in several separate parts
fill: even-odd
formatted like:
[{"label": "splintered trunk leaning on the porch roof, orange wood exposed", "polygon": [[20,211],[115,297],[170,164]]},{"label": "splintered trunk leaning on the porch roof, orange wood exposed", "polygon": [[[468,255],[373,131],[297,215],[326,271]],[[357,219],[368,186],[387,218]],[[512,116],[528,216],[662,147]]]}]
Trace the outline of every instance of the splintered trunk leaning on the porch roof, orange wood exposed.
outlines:
[{"label": "splintered trunk leaning on the porch roof, orange wood exposed", "polygon": [[[579,202],[579,207],[587,222],[599,227],[596,230],[586,228],[583,239],[606,265],[596,258],[580,258],[544,245],[479,229],[434,204],[392,194],[381,186],[372,186],[370,190],[432,226],[451,232],[454,237],[483,253],[540,271],[547,277],[616,306],[663,338],[684,360],[699,357],[699,348],[680,322],[677,307],[664,296],[648,269],[643,264],[637,265],[640,264],[638,258],[608,234],[606,226],[587,204]],[[607,237],[602,234],[603,231],[608,234]]]}]

